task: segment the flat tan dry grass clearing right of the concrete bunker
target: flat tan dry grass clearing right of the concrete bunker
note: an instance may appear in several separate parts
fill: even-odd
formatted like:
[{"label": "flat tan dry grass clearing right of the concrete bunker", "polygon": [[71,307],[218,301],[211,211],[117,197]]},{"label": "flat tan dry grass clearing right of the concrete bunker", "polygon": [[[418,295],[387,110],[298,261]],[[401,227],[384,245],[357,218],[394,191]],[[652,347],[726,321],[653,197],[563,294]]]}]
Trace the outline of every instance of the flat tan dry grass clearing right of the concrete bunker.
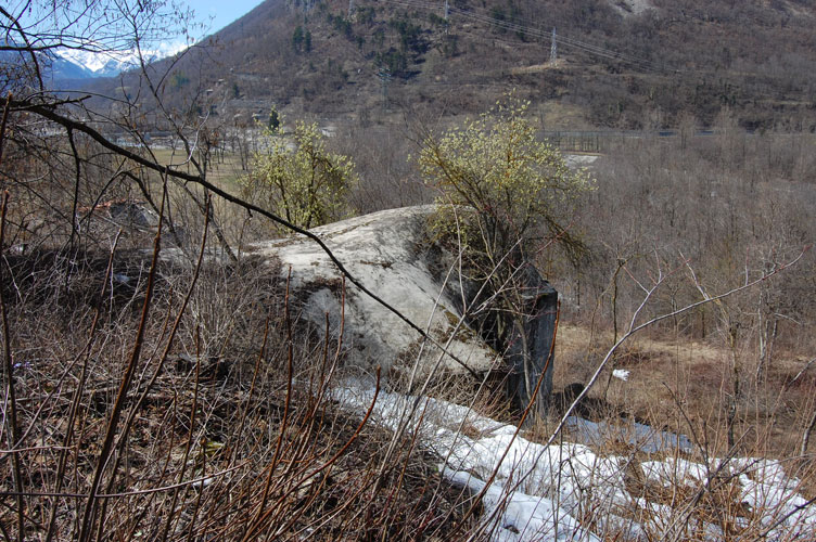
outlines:
[{"label": "flat tan dry grass clearing right of the concrete bunker", "polygon": [[[594,334],[587,327],[562,325],[553,389],[584,380],[611,340],[611,333]],[[612,416],[626,413],[656,428],[696,436],[704,440],[711,453],[723,454],[728,450],[726,409],[732,370],[730,352],[715,340],[658,333],[638,336],[614,359],[615,369],[630,372],[628,380],[607,375],[589,398],[605,401]],[[778,352],[761,382],[743,371],[735,425],[742,453],[777,459],[798,453],[814,408],[812,390],[816,383],[812,372],[796,378],[805,363],[801,356]],[[604,389],[607,382],[609,388]]]}]

